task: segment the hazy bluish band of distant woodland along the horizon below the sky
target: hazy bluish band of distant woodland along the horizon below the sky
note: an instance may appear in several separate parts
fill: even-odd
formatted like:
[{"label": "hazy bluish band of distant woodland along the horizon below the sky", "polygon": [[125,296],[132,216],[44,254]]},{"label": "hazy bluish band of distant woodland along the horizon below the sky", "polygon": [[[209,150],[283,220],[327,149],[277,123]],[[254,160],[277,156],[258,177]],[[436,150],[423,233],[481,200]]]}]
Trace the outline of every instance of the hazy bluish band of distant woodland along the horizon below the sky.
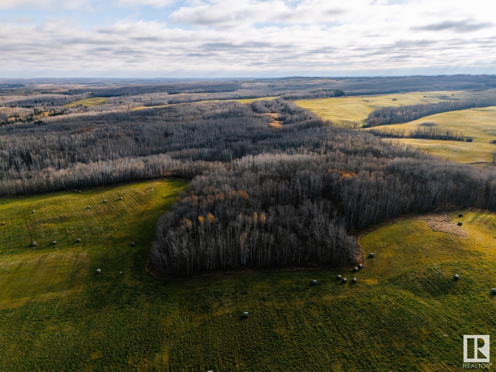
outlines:
[{"label": "hazy bluish band of distant woodland along the horizon below the sky", "polygon": [[[21,81],[23,84],[19,84]],[[33,100],[41,98],[44,104],[54,102],[66,104],[75,101],[69,96],[87,97],[122,97],[153,94],[192,94],[206,93],[203,99],[240,99],[282,96],[286,100],[312,99],[337,97],[341,93],[347,96],[370,95],[370,94],[393,94],[412,91],[434,91],[434,90],[463,90],[463,89],[487,89],[496,87],[496,76],[494,75],[439,75],[439,76],[389,76],[389,77],[286,77],[277,79],[240,79],[240,80],[199,80],[184,81],[171,79],[23,79],[16,83],[24,87],[14,88],[6,85],[14,83],[9,79],[0,79],[0,94],[12,94],[12,90],[18,92],[18,103],[22,106],[26,103],[32,105]],[[2,85],[3,84],[5,85]],[[43,94],[30,95],[27,100],[20,95],[32,93],[35,84],[67,84],[65,89],[53,89]],[[76,84],[76,86],[74,86]],[[79,85],[79,86],[77,86]],[[2,87],[5,87],[2,89]],[[39,87],[38,87],[39,88]],[[232,94],[229,94],[232,93]],[[218,94],[218,96],[215,96]],[[50,100],[42,96],[59,95],[64,98],[61,102],[50,97]],[[141,97],[144,98],[144,97]],[[78,98],[79,99],[79,98]],[[174,97],[167,102],[180,103],[198,101],[198,97],[187,98]],[[145,101],[145,99],[142,99]],[[158,101],[158,100],[157,100]],[[141,102],[141,101],[140,101]],[[160,104],[167,104],[160,103]],[[1,105],[0,101],[0,105]],[[154,103],[157,105],[158,103]],[[150,104],[146,104],[150,106]],[[22,106],[23,107],[23,106]]]}]

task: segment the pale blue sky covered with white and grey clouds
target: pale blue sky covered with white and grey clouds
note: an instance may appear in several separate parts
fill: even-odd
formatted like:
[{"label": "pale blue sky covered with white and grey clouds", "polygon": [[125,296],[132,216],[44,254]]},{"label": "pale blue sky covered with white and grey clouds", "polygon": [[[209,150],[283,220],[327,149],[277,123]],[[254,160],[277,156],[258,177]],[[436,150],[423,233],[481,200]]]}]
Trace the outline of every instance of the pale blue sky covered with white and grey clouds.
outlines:
[{"label": "pale blue sky covered with white and grey clouds", "polygon": [[0,77],[496,73],[494,0],[0,0]]}]

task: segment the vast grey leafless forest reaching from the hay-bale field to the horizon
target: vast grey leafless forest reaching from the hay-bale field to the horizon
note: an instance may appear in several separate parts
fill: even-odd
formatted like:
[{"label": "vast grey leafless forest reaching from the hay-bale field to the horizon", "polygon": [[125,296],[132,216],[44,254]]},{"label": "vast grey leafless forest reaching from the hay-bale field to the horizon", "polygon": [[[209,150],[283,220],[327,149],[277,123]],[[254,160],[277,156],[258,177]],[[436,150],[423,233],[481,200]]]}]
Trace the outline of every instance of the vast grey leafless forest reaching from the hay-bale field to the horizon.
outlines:
[{"label": "vast grey leafless forest reaching from the hay-bale field to the horizon", "polygon": [[[39,81],[2,81],[0,194],[164,176],[190,179],[188,191],[160,220],[151,249],[156,270],[180,275],[348,265],[361,255],[350,231],[446,206],[496,208],[493,171],[324,123],[291,102],[480,89],[494,87],[494,76],[342,80],[85,81],[84,86],[74,80],[52,81],[46,91],[37,88]],[[273,96],[280,97],[251,104],[222,101]],[[94,97],[108,99],[98,106],[91,101],[67,106]],[[198,102],[212,99],[220,101]],[[274,118],[280,127],[269,125]]]}]

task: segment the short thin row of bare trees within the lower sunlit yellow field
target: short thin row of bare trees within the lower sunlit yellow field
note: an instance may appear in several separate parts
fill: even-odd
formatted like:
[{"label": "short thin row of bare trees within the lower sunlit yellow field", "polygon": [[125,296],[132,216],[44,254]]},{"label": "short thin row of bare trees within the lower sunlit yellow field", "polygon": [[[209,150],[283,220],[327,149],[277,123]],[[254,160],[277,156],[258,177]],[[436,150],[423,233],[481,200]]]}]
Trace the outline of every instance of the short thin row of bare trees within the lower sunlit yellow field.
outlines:
[{"label": "short thin row of bare trees within the lower sunlit yellow field", "polygon": [[417,139],[442,139],[444,141],[466,141],[472,142],[472,137],[466,137],[462,133],[440,127],[418,127],[415,130],[405,129],[370,129],[369,133],[384,138],[417,138]]}]

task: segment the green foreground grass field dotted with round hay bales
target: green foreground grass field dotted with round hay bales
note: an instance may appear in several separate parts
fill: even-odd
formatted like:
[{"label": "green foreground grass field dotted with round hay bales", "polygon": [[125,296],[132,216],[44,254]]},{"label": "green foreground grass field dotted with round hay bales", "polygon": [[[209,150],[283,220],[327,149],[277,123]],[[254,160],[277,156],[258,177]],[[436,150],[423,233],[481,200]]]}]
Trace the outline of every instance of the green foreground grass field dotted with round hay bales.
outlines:
[{"label": "green foreground grass field dotted with round hay bales", "polygon": [[[356,274],[162,281],[146,273],[146,253],[184,187],[1,198],[0,370],[458,371],[462,335],[496,324],[494,214],[464,211],[468,238],[418,219],[372,231],[361,244],[375,257]],[[341,285],[338,273],[359,281]]]}]

